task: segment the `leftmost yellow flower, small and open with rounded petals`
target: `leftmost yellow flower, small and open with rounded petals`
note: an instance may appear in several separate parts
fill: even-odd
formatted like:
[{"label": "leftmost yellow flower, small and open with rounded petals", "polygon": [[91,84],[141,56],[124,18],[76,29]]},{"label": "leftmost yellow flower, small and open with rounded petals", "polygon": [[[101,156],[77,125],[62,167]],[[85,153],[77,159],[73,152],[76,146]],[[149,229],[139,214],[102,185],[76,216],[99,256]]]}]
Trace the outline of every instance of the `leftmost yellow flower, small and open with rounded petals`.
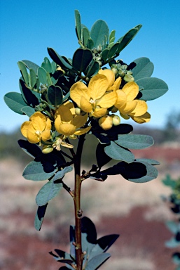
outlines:
[{"label": "leftmost yellow flower, small and open with rounded petals", "polygon": [[51,122],[48,117],[40,112],[34,113],[29,121],[21,126],[21,133],[29,143],[39,143],[50,139]]}]

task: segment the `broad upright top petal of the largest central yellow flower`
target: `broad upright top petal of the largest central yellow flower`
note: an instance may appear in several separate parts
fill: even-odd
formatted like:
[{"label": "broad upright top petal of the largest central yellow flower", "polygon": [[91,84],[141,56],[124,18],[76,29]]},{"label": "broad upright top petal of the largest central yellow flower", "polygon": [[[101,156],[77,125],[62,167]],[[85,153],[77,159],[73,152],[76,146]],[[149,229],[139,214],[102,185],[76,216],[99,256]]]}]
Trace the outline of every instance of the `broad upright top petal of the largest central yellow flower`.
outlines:
[{"label": "broad upright top petal of the largest central yellow flower", "polygon": [[88,94],[90,98],[94,101],[101,98],[106,92],[106,89],[108,89],[108,86],[109,82],[106,76],[101,74],[95,75],[90,79],[90,83],[88,85]]}]

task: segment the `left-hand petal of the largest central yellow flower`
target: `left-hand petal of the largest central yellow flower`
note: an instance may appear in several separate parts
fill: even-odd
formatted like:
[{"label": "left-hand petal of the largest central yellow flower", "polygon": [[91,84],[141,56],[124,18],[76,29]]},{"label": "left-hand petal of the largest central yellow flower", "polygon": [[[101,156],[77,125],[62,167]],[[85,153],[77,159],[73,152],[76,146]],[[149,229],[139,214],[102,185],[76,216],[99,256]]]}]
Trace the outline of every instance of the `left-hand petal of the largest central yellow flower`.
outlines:
[{"label": "left-hand petal of the largest central yellow flower", "polygon": [[70,89],[71,99],[76,102],[78,107],[80,107],[81,96],[84,96],[87,100],[90,100],[90,96],[88,96],[88,87],[83,84],[83,82],[76,82],[71,86]]}]

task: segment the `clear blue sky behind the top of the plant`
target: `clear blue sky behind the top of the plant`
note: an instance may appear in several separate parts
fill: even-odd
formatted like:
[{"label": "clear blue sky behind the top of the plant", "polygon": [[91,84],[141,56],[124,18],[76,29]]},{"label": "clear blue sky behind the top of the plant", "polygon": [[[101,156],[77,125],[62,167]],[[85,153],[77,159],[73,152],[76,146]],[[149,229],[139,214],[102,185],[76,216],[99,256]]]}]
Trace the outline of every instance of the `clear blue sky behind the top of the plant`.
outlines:
[{"label": "clear blue sky behind the top of the plant", "polygon": [[[52,47],[62,56],[72,57],[78,49],[74,10],[89,29],[95,20],[105,20],[116,30],[116,40],[132,27],[143,27],[120,53],[125,63],[145,56],[155,65],[153,77],[169,86],[165,96],[148,102],[151,122],[146,127],[163,127],[167,115],[180,111],[180,1],[106,1],[106,0],[1,0],[0,1],[0,131],[13,131],[27,120],[13,113],[4,95],[19,92],[18,60],[41,65]],[[128,122],[132,124],[132,122]]]}]

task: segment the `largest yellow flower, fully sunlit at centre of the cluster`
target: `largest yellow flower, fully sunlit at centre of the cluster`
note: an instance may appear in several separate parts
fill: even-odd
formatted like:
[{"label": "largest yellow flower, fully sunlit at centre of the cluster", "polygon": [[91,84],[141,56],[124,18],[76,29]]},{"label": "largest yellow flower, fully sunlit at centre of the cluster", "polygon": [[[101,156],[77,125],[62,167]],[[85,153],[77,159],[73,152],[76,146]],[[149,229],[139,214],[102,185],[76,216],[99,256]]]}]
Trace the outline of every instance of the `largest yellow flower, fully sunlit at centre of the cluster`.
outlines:
[{"label": "largest yellow flower, fully sunlit at centre of the cluster", "polygon": [[106,115],[107,109],[116,103],[114,88],[118,86],[113,86],[114,82],[115,75],[111,70],[101,70],[90,79],[88,86],[83,82],[76,82],[71,86],[71,99],[85,113],[90,113],[90,116],[102,117]]}]

